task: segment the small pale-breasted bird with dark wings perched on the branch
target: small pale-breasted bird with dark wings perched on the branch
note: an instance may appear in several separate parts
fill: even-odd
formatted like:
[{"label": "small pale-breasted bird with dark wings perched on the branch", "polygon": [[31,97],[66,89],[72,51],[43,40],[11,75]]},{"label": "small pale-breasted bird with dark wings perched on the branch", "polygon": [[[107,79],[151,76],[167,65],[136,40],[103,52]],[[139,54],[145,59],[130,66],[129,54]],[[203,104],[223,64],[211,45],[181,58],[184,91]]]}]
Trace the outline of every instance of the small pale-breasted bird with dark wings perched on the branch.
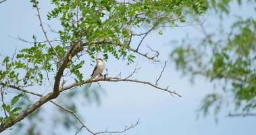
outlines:
[{"label": "small pale-breasted bird with dark wings perched on the branch", "polygon": [[[105,69],[105,63],[104,63],[104,60],[99,57],[96,59],[96,65],[95,65],[95,68],[93,70],[93,73],[91,74],[91,79],[94,79],[96,78],[98,75],[99,76],[103,76],[103,71]],[[91,83],[88,84],[88,86],[91,86]]]}]

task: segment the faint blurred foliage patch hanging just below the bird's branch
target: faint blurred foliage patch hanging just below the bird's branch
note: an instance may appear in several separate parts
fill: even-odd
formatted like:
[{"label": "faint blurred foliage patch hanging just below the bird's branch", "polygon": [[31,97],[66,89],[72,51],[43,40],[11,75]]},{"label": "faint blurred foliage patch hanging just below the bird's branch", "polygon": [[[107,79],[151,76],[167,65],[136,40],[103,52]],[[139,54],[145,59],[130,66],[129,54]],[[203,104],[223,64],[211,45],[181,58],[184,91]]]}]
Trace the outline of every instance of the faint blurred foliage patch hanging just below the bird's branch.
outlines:
[{"label": "faint blurred foliage patch hanging just below the bird's branch", "polygon": [[[65,92],[58,102],[60,102],[63,107],[75,111],[78,115],[82,115],[86,113],[85,106],[88,107],[88,105],[93,105],[93,103],[100,105],[101,97],[103,96],[102,94],[104,94],[104,90],[99,86],[83,86],[76,88],[76,90]],[[66,99],[69,99],[69,101],[67,102]],[[58,124],[59,126],[63,124],[63,128],[66,130],[70,130],[72,127],[80,128],[80,124],[72,114],[59,108],[57,110],[58,111],[55,113],[61,113],[61,118],[58,118],[55,121],[55,124]]]}]

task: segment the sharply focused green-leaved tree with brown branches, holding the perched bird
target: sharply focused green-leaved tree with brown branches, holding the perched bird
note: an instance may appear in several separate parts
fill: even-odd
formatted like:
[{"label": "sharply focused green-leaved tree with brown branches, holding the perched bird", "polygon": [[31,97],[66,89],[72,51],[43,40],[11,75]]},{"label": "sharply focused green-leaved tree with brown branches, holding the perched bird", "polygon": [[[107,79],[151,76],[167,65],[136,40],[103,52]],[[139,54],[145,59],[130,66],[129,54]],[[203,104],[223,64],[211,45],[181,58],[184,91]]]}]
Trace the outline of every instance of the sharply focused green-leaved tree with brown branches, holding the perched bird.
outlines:
[{"label": "sharply focused green-leaved tree with brown branches, holding the perched bird", "polygon": [[[34,117],[39,117],[40,112],[36,110],[47,102],[51,102],[63,111],[71,113],[80,121],[78,115],[74,112],[76,110],[75,103],[67,105],[66,109],[52,101],[52,99],[56,99],[60,92],[64,90],[90,81],[138,82],[138,80],[129,80],[130,76],[124,79],[99,78],[99,80],[84,80],[84,74],[80,72],[80,68],[84,63],[94,61],[98,53],[102,53],[105,61],[111,57],[120,60],[126,59],[127,63],[132,63],[136,59],[135,54],[156,61],[159,53],[157,52],[156,56],[149,56],[148,53],[140,52],[139,47],[143,39],[136,49],[133,49],[132,47],[136,46],[131,45],[133,38],[147,36],[149,32],[162,27],[176,26],[185,22],[188,16],[203,14],[206,9],[200,0],[52,0],[51,3],[55,7],[48,12],[47,18],[49,21],[59,22],[61,28],[55,30],[58,38],[55,41],[51,41],[45,31],[39,11],[40,2],[36,0],[31,0],[30,2],[39,17],[45,41],[37,41],[36,35],[32,36],[33,41],[22,40],[29,47],[18,51],[18,53],[15,52],[13,56],[7,56],[2,59],[0,82],[3,93],[7,93],[6,90],[11,88],[39,97],[39,100],[30,103],[25,102],[26,99],[23,99],[20,107],[13,108],[13,104],[18,101],[20,96],[14,97],[11,100],[11,105],[7,105],[4,104],[2,95],[3,111],[7,111],[9,116],[1,117],[0,132],[30,116],[28,119],[31,120],[31,124],[28,133],[39,134],[34,130],[36,127]],[[190,11],[190,14],[188,14],[188,11]],[[161,34],[162,32],[159,33]],[[53,45],[53,43],[55,44]],[[84,55],[88,55],[89,59],[82,60]],[[74,84],[64,86],[69,78],[74,78]],[[160,90],[170,92],[170,94],[177,94],[168,90],[168,88],[161,88],[157,84],[143,81],[139,83],[149,84]],[[26,88],[43,89],[45,88],[44,86],[48,86],[47,88],[52,90],[47,94],[36,93],[36,90],[32,92],[26,90]],[[75,97],[74,94],[68,95]],[[180,96],[179,94],[177,95]],[[88,93],[86,97],[90,97]],[[99,98],[97,94],[95,94],[95,97]],[[26,98],[29,99],[30,96],[26,96]],[[22,111],[20,111],[21,109]],[[66,128],[73,122],[74,119],[70,120],[70,117],[63,121]],[[80,123],[82,128],[86,128],[82,121]],[[74,126],[75,124],[72,125]],[[22,124],[18,127],[22,128]],[[130,126],[130,128],[132,127]],[[86,130],[88,129],[86,128]],[[94,134],[91,130],[88,130],[88,132]],[[104,133],[111,132],[98,134]]]}]

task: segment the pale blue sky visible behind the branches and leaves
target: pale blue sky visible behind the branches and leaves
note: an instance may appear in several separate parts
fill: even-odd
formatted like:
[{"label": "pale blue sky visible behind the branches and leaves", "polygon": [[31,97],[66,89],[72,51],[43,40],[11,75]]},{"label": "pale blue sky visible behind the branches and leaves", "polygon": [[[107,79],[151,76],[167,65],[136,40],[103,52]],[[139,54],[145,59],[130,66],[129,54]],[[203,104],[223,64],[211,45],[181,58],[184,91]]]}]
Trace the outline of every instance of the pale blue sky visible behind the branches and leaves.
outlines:
[{"label": "pale blue sky visible behind the branches and leaves", "polygon": [[[39,6],[41,7],[41,15],[44,22],[57,26],[57,24],[54,24],[55,22],[48,22],[45,18],[47,11],[53,7],[49,5],[49,1],[41,1]],[[240,8],[236,5],[234,5],[234,12],[245,16],[253,16],[255,13],[253,8]],[[11,55],[14,49],[26,47],[25,43],[9,36],[21,36],[24,39],[31,40],[32,34],[35,34],[38,36],[39,41],[44,39],[39,20],[34,14],[36,14],[36,10],[32,9],[32,4],[29,1],[7,0],[0,5],[1,54]],[[216,16],[212,14],[207,16],[205,25],[211,26],[215,23]],[[234,18],[230,18],[228,21],[232,22]],[[57,29],[57,27],[55,28]],[[216,30],[213,27],[207,28],[208,30]],[[146,38],[143,45],[151,45],[153,49],[159,50],[161,52],[160,59],[165,60],[168,58],[172,45],[174,45],[170,41],[180,40],[186,35],[193,35],[191,37],[202,36],[191,26],[170,28],[163,30],[163,36],[152,33]],[[50,37],[52,38],[52,36]],[[146,52],[147,50],[144,47],[142,51]],[[87,67],[85,68],[85,66]],[[85,66],[82,70],[86,71],[84,76],[88,76],[88,72],[92,71],[92,67],[88,66],[88,64]],[[155,78],[161,72],[161,64],[153,64],[144,57],[139,58],[139,66],[142,69],[134,78],[139,78],[140,80],[155,82]],[[113,58],[107,61],[109,76],[116,76],[120,72],[129,74],[133,68],[134,65],[126,67],[126,61],[118,61]],[[106,93],[103,95],[101,105],[84,105],[78,110],[80,114],[84,114],[82,115],[83,119],[93,131],[99,132],[107,127],[109,130],[122,130],[124,128],[123,124],[135,123],[140,118],[140,124],[124,134],[253,135],[256,132],[256,117],[226,117],[228,112],[222,112],[218,124],[215,123],[215,119],[211,115],[197,119],[196,110],[199,107],[199,103],[205,94],[213,91],[213,86],[205,78],[200,77],[196,78],[195,84],[190,84],[189,78],[181,78],[180,72],[175,70],[172,63],[168,64],[163,78],[159,81],[159,85],[163,87],[170,85],[170,88],[181,94],[182,98],[172,97],[167,92],[143,84],[101,82],[101,85]],[[48,112],[47,114],[50,113]],[[42,130],[49,132],[49,134],[51,133],[51,128],[53,128],[49,124],[41,124],[40,127]],[[85,134],[85,131],[82,130],[80,134]],[[10,132],[11,130],[8,130],[2,134],[7,135]],[[59,129],[55,134],[74,134],[75,132],[76,129],[70,130],[70,132]]]}]

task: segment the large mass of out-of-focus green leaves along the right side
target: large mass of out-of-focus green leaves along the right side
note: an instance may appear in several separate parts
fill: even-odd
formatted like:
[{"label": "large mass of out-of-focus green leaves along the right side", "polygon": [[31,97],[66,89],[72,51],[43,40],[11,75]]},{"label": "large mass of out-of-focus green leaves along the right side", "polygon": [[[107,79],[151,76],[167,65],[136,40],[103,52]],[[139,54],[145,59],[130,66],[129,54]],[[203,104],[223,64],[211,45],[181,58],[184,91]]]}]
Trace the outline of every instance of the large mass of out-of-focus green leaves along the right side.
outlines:
[{"label": "large mass of out-of-focus green leaves along the right side", "polygon": [[[209,10],[220,11],[218,13],[223,16],[228,16],[231,10],[231,1],[205,2]],[[238,5],[242,6],[242,2],[245,1],[238,1]],[[256,7],[255,1],[248,2]],[[215,114],[219,113],[226,102],[230,105],[229,111],[249,113],[256,108],[256,20],[238,17],[229,25],[230,29],[205,32],[205,36],[197,39],[196,43],[184,40],[171,53],[176,68],[183,74],[193,78],[196,75],[205,76],[211,82],[224,82],[221,94],[215,92],[203,99],[199,109],[203,115],[207,115],[211,107],[215,108]],[[207,28],[204,30],[207,31]],[[223,101],[221,95],[228,98],[231,95],[231,98]]]}]

